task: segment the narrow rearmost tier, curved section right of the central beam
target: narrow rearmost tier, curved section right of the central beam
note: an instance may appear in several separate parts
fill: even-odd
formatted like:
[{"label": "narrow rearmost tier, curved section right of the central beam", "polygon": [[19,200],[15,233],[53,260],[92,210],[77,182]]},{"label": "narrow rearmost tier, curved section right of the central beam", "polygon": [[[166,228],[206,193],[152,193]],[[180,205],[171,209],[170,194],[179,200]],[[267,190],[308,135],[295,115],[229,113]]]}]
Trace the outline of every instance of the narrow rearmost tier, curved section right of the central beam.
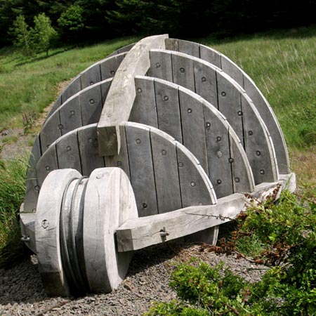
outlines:
[{"label": "narrow rearmost tier, curved section right of the central beam", "polygon": [[232,62],[227,56],[219,53],[213,48],[197,44],[192,41],[183,41],[180,39],[166,39],[166,49],[186,53],[219,67],[223,72],[234,79],[254,102],[263,121],[268,127],[273,143],[275,144],[275,154],[280,173],[289,173],[289,154],[284,135],[277,121],[277,117],[272,107],[258,89],[254,81],[246,74],[235,62]]}]

